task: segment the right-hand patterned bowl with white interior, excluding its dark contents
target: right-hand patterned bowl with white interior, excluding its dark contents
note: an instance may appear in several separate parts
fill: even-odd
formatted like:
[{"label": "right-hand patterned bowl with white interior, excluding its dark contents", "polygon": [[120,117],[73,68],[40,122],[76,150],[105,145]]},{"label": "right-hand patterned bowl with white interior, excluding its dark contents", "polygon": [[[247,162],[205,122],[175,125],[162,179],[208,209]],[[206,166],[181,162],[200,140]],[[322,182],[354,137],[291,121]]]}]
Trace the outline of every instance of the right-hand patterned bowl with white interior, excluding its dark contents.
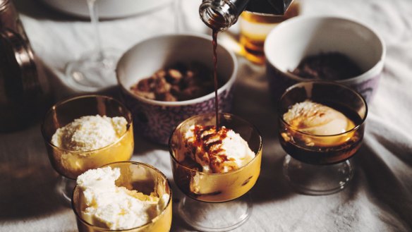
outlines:
[{"label": "right-hand patterned bowl with white interior, excluding its dark contents", "polygon": [[269,90],[277,101],[287,87],[309,79],[289,73],[303,58],[339,52],[363,71],[337,80],[359,92],[370,103],[382,75],[386,48],[380,35],[353,20],[327,16],[298,16],[274,28],[265,41]]}]

